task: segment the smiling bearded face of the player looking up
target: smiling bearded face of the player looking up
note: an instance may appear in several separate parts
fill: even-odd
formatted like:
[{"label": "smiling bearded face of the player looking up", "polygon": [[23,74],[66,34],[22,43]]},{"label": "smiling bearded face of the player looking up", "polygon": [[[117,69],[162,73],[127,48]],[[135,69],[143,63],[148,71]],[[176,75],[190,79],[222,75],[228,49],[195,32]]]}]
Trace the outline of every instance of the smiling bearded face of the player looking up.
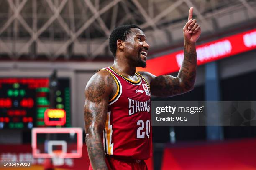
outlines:
[{"label": "smiling bearded face of the player looking up", "polygon": [[131,28],[131,33],[127,35],[124,44],[125,57],[131,60],[136,67],[145,68],[149,45],[144,32],[138,28]]}]

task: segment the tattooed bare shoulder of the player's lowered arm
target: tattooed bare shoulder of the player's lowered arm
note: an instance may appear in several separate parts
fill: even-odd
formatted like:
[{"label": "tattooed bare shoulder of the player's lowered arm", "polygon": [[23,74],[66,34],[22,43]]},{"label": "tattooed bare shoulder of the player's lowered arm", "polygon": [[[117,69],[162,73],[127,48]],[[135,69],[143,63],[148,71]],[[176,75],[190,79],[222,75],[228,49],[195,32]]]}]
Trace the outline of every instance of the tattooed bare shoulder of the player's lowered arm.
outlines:
[{"label": "tattooed bare shoulder of the player's lowered arm", "polygon": [[85,87],[86,99],[109,97],[113,91],[113,77],[108,71],[100,70],[95,73]]}]

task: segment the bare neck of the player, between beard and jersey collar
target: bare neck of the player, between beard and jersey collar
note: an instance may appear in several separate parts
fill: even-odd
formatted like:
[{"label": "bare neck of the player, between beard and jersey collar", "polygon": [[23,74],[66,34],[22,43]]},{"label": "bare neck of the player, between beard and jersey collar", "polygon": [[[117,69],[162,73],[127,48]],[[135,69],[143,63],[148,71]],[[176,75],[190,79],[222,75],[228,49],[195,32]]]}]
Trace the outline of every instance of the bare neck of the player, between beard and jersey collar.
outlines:
[{"label": "bare neck of the player, between beard and jersey collar", "polygon": [[133,76],[136,72],[136,67],[125,59],[120,60],[116,58],[112,67],[116,72],[123,76]]}]

